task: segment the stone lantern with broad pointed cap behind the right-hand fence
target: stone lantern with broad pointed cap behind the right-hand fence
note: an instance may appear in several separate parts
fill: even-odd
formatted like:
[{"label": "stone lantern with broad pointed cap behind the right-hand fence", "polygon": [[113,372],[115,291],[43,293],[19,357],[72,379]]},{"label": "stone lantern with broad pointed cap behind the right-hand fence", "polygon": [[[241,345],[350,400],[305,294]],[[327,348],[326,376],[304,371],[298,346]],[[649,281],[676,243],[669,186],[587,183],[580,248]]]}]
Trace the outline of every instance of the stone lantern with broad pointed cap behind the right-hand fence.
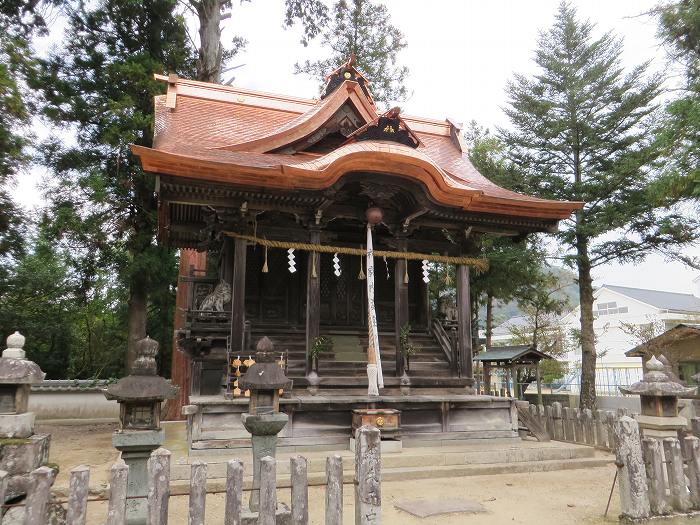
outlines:
[{"label": "stone lantern with broad pointed cap behind the right-hand fence", "polygon": [[678,397],[695,393],[695,388],[673,381],[664,368],[664,364],[652,356],[641,381],[628,388],[620,387],[623,394],[640,397],[642,413],[635,419],[644,437],[677,437],[678,431],[688,424],[686,418],[678,415]]}]

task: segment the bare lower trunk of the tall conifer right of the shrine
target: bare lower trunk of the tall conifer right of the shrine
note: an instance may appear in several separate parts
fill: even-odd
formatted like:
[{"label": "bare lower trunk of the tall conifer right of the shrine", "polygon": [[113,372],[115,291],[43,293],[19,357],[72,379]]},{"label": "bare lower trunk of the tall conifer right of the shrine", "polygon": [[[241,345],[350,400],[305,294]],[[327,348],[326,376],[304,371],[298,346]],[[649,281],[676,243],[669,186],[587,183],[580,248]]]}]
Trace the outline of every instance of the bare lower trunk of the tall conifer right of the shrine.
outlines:
[{"label": "bare lower trunk of the tall conifer right of the shrine", "polygon": [[588,239],[576,236],[578,289],[581,308],[581,408],[595,408],[595,334],[593,332],[593,278],[588,258]]}]

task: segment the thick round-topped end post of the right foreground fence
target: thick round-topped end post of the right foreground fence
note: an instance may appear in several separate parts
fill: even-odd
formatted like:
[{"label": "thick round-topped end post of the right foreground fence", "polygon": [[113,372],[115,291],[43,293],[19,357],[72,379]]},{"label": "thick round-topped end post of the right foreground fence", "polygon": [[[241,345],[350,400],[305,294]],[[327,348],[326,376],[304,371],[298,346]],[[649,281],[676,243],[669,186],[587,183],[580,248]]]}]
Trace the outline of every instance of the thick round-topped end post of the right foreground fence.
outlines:
[{"label": "thick round-topped end post of the right foreground fence", "polygon": [[619,470],[620,510],[631,520],[649,517],[646,469],[639,425],[627,416],[615,422],[616,464]]}]

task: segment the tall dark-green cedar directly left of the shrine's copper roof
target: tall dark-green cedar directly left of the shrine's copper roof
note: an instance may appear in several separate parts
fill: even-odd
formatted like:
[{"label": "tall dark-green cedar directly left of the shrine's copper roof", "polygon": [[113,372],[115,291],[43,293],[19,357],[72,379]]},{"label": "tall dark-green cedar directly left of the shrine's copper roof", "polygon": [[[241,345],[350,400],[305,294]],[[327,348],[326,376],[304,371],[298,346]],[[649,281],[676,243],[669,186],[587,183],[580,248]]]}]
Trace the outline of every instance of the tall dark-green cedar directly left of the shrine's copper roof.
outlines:
[{"label": "tall dark-green cedar directly left of the shrine's copper roof", "polygon": [[194,71],[176,8],[176,0],[67,5],[65,39],[34,86],[45,97],[45,115],[76,133],[73,144],[46,148],[59,180],[50,194],[55,227],[85,254],[86,266],[111,267],[128,288],[127,366],[147,333],[149,296],[163,311],[151,335],[166,345],[171,339],[175,256],[155,243],[155,179],[129,144],[152,145],[153,96],[164,90],[153,74]]}]

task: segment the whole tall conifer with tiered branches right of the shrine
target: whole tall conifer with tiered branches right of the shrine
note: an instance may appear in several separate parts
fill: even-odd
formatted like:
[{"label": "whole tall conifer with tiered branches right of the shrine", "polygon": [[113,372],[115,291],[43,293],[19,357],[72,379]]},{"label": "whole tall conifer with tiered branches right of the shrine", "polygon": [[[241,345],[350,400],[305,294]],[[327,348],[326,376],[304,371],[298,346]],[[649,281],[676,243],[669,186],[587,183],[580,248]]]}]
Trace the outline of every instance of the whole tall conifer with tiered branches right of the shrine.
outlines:
[{"label": "whole tall conifer with tiered branches right of the shrine", "polygon": [[661,80],[647,78],[647,64],[625,74],[622,42],[612,33],[595,38],[593,30],[560,5],[553,27],[540,35],[539,72],[508,85],[512,129],[500,130],[533,193],[586,203],[563,221],[558,238],[578,269],[581,406],[588,408],[595,404],[592,269],[670,252],[697,235],[668,199],[650,191],[658,175],[649,166],[659,154],[650,121]]}]

